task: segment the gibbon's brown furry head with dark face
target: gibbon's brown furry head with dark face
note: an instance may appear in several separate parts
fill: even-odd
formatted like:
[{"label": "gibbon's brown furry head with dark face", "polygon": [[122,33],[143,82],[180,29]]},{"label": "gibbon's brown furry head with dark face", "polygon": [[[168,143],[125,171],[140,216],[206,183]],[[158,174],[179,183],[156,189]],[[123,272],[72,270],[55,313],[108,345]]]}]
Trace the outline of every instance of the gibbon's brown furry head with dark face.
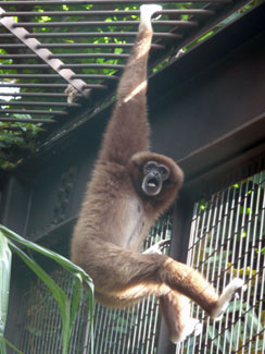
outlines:
[{"label": "gibbon's brown furry head with dark face", "polygon": [[178,192],[184,181],[181,169],[168,157],[142,151],[132,156],[129,172],[140,194],[156,199]]}]

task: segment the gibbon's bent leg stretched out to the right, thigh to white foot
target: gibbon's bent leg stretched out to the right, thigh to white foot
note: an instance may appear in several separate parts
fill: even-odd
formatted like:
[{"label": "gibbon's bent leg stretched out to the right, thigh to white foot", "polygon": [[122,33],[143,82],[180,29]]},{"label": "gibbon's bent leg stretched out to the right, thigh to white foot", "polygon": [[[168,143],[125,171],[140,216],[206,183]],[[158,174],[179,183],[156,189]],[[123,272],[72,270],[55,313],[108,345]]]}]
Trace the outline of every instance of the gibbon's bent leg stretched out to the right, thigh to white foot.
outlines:
[{"label": "gibbon's bent leg stretched out to the right, thigh to white foot", "polygon": [[84,244],[79,249],[78,265],[93,279],[99,296],[110,298],[109,303],[104,302],[110,306],[123,307],[148,295],[160,297],[174,290],[216,318],[243,285],[243,281],[236,278],[218,296],[197,270],[165,255],[139,254],[99,239],[87,242],[88,247]]}]

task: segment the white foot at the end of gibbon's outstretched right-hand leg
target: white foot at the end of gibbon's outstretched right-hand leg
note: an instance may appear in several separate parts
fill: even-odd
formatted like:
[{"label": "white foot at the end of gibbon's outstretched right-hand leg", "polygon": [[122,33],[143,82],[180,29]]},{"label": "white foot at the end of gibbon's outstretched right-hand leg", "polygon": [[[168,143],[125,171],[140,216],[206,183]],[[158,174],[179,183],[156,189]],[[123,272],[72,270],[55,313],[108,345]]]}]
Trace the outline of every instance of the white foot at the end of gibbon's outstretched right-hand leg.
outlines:
[{"label": "white foot at the end of gibbon's outstretched right-hand leg", "polygon": [[212,312],[211,317],[215,320],[220,320],[224,312],[227,309],[229,302],[232,300],[232,297],[239,296],[238,292],[239,290],[245,291],[247,285],[244,285],[244,282],[240,278],[235,278],[225,288],[223,294],[219,296],[218,302],[214,310]]}]

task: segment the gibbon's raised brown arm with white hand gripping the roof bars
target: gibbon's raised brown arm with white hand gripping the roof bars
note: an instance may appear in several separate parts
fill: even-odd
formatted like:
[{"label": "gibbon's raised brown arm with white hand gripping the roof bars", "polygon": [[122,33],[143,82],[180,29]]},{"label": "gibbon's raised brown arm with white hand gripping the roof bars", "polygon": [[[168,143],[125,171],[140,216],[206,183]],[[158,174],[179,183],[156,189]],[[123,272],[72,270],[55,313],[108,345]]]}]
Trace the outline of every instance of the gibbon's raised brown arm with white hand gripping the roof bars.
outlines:
[{"label": "gibbon's raised brown arm with white hand gripping the roof bars", "polygon": [[151,16],[160,10],[159,5],[141,7],[139,32],[119,80],[117,101],[104,135],[101,160],[126,164],[134,154],[149,149],[147,65],[153,35]]}]

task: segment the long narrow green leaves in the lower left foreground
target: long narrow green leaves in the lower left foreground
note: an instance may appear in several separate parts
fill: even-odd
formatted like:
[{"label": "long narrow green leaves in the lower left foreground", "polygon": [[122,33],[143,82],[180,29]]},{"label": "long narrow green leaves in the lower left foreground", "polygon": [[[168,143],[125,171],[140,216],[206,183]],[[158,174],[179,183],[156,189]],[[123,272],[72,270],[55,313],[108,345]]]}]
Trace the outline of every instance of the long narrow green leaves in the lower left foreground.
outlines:
[{"label": "long narrow green leaves in the lower left foreground", "polygon": [[[63,354],[68,353],[68,344],[71,332],[73,330],[76,313],[78,310],[83,285],[86,285],[89,293],[89,307],[90,307],[90,333],[93,333],[93,325],[92,325],[92,310],[93,310],[93,283],[89,276],[79,267],[75,266],[68,259],[63,256],[45,248],[40,245],[37,245],[28,240],[25,240],[12,232],[11,230],[0,225],[0,273],[3,274],[1,279],[3,279],[3,288],[1,289],[1,298],[0,298],[0,345],[3,345],[3,330],[4,322],[7,319],[7,308],[8,308],[8,293],[9,293],[9,279],[10,279],[10,249],[9,247],[16,253],[21,259],[40,278],[43,283],[48,286],[48,289],[53,294],[55,301],[59,304],[61,316],[62,316],[62,346]],[[24,251],[23,247],[18,247],[17,244],[23,247],[27,247],[33,249],[39,254],[45,255],[46,257],[58,263],[62,268],[70,271],[74,277],[74,291],[72,293],[72,298],[67,296],[67,294],[56,284],[56,282]],[[1,280],[0,279],[0,280]],[[91,352],[93,351],[92,344],[93,335],[91,334]],[[1,352],[2,353],[2,352]],[[4,353],[4,352],[3,352]]]}]

